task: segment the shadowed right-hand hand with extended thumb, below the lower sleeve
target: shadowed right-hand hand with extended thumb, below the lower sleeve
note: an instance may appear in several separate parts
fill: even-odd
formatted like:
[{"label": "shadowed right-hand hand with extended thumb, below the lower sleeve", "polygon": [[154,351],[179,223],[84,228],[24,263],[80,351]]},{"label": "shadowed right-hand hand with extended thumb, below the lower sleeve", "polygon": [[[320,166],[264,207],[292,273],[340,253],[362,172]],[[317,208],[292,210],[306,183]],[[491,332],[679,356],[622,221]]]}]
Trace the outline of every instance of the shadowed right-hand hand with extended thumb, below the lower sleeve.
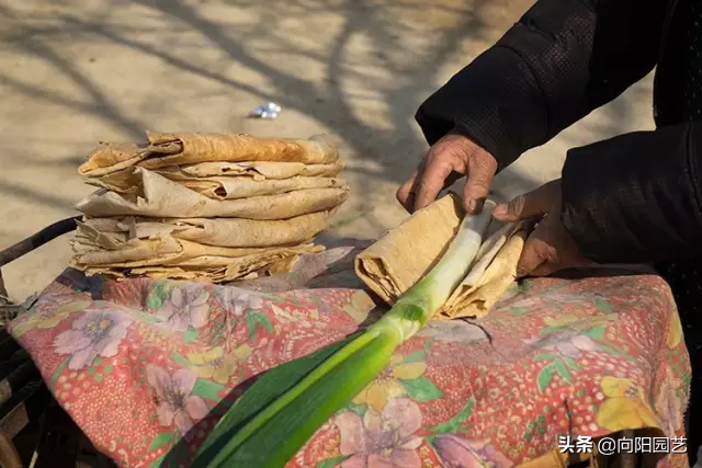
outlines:
[{"label": "shadowed right-hand hand with extended thumb, below the lower sleeve", "polygon": [[561,179],[498,205],[492,216],[501,221],[543,216],[526,239],[517,266],[519,276],[545,276],[593,263],[580,254],[575,239],[561,221]]}]

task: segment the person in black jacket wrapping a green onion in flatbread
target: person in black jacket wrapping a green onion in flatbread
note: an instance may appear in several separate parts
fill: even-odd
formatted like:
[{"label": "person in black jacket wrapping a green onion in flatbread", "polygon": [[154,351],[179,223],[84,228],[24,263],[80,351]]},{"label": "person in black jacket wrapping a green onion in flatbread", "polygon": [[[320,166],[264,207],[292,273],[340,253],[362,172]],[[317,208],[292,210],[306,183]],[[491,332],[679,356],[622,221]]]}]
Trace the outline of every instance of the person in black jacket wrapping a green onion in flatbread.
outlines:
[{"label": "person in black jacket wrapping a green onion in flatbread", "polygon": [[397,197],[414,212],[465,175],[466,212],[480,212],[498,171],[654,68],[655,130],[570,149],[561,179],[492,215],[545,216],[524,246],[520,275],[591,262],[656,265],[692,362],[694,464],[702,442],[702,1],[537,0],[421,104],[416,119],[430,149]]}]

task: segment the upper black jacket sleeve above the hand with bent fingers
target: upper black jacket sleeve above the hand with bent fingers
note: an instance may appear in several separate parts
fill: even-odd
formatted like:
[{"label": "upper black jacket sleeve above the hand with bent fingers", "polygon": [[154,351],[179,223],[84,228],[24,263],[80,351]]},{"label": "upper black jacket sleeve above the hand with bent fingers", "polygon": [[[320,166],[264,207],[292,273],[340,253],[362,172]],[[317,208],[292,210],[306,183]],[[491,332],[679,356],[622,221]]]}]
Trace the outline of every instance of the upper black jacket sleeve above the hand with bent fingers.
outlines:
[{"label": "upper black jacket sleeve above the hand with bent fingers", "polygon": [[537,0],[416,119],[430,145],[457,127],[503,169],[646,76],[665,15],[663,0]]}]

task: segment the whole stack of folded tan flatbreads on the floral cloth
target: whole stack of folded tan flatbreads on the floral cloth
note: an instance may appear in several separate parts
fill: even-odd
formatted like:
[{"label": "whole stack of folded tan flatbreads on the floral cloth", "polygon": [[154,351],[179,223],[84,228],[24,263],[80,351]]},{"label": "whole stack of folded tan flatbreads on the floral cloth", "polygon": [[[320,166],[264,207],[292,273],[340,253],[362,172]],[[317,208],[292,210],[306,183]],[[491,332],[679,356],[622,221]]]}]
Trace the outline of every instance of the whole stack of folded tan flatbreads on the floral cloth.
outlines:
[{"label": "whole stack of folded tan flatbreads on the floral cloth", "polygon": [[227,282],[290,270],[349,196],[336,145],[147,133],[79,168],[101,187],[77,209],[71,266],[113,277]]}]

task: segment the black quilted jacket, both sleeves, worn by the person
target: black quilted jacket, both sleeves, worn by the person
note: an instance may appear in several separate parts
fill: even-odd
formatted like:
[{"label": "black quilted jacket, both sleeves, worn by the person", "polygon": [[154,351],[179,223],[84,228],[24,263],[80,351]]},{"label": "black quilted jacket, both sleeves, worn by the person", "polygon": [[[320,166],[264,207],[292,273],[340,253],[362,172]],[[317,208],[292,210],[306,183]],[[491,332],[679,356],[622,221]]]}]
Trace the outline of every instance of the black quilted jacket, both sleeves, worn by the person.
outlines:
[{"label": "black quilted jacket, both sleeves, worn by the person", "polygon": [[[693,24],[692,10],[679,13],[680,7],[670,0],[539,0],[430,96],[417,122],[429,144],[461,128],[503,169],[658,66],[657,129],[571,149],[562,218],[582,252],[599,262],[702,255],[702,76],[694,83],[689,73],[702,65],[693,60],[702,48],[689,45],[690,31],[702,36],[702,18]],[[698,87],[700,99],[690,104]]]}]

